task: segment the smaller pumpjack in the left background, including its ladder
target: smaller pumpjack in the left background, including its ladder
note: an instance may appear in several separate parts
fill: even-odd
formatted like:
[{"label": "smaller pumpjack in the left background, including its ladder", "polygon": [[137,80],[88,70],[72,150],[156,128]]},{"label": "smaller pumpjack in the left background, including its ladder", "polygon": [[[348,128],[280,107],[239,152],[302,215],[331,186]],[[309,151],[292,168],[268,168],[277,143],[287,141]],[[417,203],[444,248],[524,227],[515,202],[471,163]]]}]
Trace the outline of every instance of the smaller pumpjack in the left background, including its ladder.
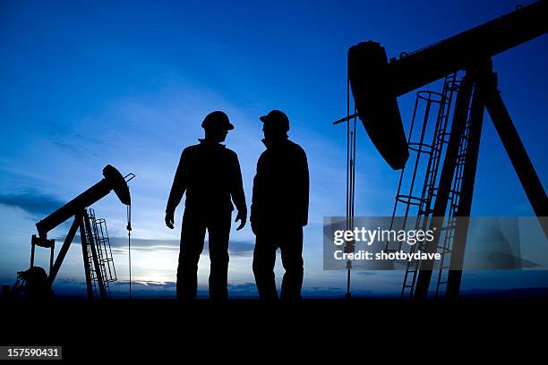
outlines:
[{"label": "smaller pumpjack in the left background, including its ladder", "polygon": [[[95,296],[98,296],[100,299],[109,298],[108,282],[116,280],[116,271],[114,272],[113,280],[113,274],[110,271],[111,267],[114,269],[112,253],[109,250],[102,250],[103,247],[101,246],[107,240],[104,237],[106,225],[104,225],[104,220],[97,219],[93,209],[88,209],[88,207],[106,197],[111,191],[114,191],[118,199],[128,207],[129,212],[132,200],[127,183],[135,175],[126,174],[123,176],[114,166],[107,165],[103,169],[103,176],[104,178],[98,183],[83,191],[76,198],[36,224],[38,235],[32,235],[30,268],[18,273],[17,283],[13,285],[13,296],[19,296],[22,293],[26,299],[42,300],[53,298],[52,285],[59,272],[59,268],[63,264],[64,257],[73,243],[74,236],[80,229],[88,298],[93,299]],[[55,239],[47,238],[47,233],[62,225],[71,217],[73,217],[73,224],[64,238],[63,245],[54,263],[56,241]],[[129,216],[127,229],[128,231],[131,230]],[[37,246],[50,250],[48,274],[44,268],[34,265]],[[108,256],[109,254],[110,257]],[[106,265],[108,269],[106,269]],[[98,290],[96,290],[96,284]]]}]

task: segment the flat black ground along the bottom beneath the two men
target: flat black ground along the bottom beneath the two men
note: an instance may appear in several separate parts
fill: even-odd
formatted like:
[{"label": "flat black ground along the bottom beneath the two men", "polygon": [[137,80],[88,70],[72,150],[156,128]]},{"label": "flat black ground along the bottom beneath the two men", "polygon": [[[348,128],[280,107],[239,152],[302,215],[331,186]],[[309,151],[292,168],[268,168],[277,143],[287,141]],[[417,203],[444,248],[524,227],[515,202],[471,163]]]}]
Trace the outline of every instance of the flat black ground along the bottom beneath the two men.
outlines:
[{"label": "flat black ground along the bottom beneath the two men", "polygon": [[[64,360],[78,363],[144,358],[310,363],[318,357],[347,362],[372,356],[388,363],[398,358],[453,363],[458,358],[491,362],[514,352],[524,361],[548,346],[547,304],[545,298],[4,301],[0,344],[62,344]],[[187,358],[191,355],[196,360]]]}]

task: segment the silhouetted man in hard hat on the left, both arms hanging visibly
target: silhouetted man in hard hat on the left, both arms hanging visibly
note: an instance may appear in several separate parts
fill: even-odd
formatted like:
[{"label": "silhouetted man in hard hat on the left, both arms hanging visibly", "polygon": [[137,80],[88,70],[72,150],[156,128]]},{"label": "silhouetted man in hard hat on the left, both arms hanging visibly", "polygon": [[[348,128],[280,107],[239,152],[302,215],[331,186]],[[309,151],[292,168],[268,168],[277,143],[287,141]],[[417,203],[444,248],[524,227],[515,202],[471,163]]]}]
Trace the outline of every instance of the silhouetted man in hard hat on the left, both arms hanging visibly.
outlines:
[{"label": "silhouetted man in hard hat on the left, both arms hanging visibly", "polygon": [[234,129],[228,116],[220,111],[207,115],[201,123],[205,139],[187,147],[181,160],[166,208],[166,225],[173,229],[174,213],[186,191],[181,250],[177,268],[177,298],[194,299],[197,289],[198,261],[206,229],[210,246],[210,299],[227,299],[228,236],[235,203],[240,221],[247,219],[240,163],[234,151],[220,144]]}]

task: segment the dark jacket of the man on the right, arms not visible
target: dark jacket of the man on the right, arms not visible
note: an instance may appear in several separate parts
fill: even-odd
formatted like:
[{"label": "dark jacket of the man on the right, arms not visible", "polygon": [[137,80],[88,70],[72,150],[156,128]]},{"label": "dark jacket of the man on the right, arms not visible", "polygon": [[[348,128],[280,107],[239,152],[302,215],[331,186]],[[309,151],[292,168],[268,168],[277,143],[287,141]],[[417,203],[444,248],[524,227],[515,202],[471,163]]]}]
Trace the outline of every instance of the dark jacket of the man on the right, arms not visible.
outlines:
[{"label": "dark jacket of the man on the right, arms not visible", "polygon": [[306,225],[309,176],[304,150],[291,140],[262,140],[267,149],[253,179],[252,222]]}]

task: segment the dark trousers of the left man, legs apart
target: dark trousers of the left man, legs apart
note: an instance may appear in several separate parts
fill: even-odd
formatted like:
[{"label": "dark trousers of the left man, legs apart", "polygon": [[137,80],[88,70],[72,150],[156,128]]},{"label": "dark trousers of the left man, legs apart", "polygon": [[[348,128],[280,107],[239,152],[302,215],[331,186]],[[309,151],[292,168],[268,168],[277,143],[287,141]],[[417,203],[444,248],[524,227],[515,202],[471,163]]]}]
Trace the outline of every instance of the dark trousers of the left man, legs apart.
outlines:
[{"label": "dark trousers of the left man, legs apart", "polygon": [[177,298],[195,299],[198,287],[198,261],[209,233],[210,249],[210,299],[227,299],[228,238],[231,223],[230,211],[203,213],[192,208],[184,209],[181,231],[181,250],[177,268]]}]

